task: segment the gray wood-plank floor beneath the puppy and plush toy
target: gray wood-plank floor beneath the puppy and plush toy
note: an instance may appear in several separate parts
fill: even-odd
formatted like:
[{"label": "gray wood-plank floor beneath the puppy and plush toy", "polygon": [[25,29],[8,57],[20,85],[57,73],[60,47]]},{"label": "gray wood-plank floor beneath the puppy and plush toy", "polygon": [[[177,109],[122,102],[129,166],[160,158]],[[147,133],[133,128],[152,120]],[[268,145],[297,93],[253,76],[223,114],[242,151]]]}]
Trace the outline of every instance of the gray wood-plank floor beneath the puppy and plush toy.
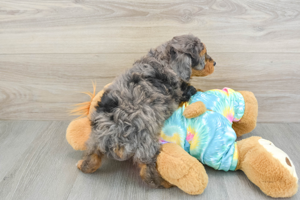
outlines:
[{"label": "gray wood-plank floor beneath the puppy and plush toy", "polygon": [[[92,174],[75,164],[82,152],[67,143],[65,121],[0,121],[0,199],[272,199],[242,171],[205,167],[208,186],[197,196],[178,188],[153,189],[131,161],[104,159]],[[300,174],[300,124],[258,124],[251,133],[285,151]],[[288,199],[300,199],[300,192]]]}]

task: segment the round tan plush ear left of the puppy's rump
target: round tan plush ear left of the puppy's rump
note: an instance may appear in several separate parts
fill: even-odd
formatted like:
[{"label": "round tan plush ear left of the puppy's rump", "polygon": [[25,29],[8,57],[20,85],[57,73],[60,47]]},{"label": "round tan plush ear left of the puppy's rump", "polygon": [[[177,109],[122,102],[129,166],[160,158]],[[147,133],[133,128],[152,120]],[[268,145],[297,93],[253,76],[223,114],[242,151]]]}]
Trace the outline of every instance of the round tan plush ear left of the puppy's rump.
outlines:
[{"label": "round tan plush ear left of the puppy's rump", "polygon": [[73,149],[83,151],[86,149],[85,142],[90,137],[91,130],[91,121],[87,117],[73,120],[67,128],[67,141]]}]

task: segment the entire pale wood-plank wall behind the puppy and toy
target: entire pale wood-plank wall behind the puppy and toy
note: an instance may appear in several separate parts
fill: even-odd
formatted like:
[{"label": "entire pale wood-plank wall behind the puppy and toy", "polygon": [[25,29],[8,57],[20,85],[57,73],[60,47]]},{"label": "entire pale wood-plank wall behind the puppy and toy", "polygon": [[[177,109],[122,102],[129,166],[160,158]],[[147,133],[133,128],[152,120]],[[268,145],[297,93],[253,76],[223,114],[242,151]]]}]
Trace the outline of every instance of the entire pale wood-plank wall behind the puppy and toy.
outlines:
[{"label": "entire pale wood-plank wall behind the puppy and toy", "polygon": [[81,91],[193,33],[217,62],[192,80],[250,90],[258,122],[300,123],[300,2],[0,0],[0,119],[70,120]]}]

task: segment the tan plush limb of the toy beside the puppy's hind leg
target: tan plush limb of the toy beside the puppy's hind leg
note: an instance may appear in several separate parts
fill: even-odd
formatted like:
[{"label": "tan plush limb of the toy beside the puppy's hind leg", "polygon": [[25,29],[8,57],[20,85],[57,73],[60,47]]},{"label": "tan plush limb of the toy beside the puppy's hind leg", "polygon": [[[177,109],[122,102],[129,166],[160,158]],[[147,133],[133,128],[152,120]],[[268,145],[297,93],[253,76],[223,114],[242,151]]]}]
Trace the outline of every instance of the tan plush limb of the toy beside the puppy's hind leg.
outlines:
[{"label": "tan plush limb of the toy beside the puppy's hind leg", "polygon": [[203,193],[208,183],[203,164],[174,143],[162,145],[156,168],[163,179],[188,194]]}]

